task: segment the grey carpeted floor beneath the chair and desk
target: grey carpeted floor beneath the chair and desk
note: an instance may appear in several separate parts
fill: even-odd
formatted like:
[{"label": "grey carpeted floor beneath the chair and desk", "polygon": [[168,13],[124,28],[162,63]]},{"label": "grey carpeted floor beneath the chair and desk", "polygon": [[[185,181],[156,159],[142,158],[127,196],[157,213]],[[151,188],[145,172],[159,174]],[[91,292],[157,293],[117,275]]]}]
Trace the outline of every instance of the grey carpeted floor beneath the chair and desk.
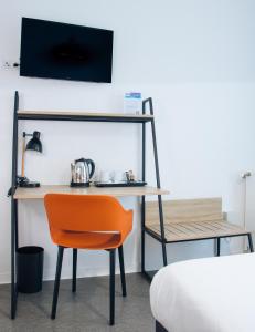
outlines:
[{"label": "grey carpeted floor beneath the chair and desk", "polygon": [[10,320],[10,286],[0,286],[1,332],[152,332],[155,322],[149,304],[149,283],[141,274],[127,274],[127,298],[121,297],[116,276],[115,326],[108,325],[108,278],[77,279],[72,293],[71,280],[61,281],[56,320],[50,319],[53,282],[43,283],[36,294],[19,294],[17,319]]}]

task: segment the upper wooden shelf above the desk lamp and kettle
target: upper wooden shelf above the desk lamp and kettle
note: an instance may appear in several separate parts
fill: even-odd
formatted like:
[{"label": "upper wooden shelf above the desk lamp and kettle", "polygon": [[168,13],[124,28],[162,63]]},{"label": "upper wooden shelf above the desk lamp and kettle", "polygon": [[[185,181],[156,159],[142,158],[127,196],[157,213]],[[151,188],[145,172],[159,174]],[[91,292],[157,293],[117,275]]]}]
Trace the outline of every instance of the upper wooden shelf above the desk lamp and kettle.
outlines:
[{"label": "upper wooden shelf above the desk lamp and kettle", "polygon": [[70,111],[18,111],[19,120],[50,120],[50,121],[87,121],[87,122],[125,122],[146,123],[153,120],[152,115],[136,115],[124,113],[92,113]]}]

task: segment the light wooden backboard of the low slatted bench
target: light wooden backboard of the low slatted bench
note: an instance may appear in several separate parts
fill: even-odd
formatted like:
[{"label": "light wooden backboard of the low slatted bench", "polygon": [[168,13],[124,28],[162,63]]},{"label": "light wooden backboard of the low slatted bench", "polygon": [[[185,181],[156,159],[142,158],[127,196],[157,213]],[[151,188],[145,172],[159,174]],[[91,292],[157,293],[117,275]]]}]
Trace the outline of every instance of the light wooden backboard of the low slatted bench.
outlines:
[{"label": "light wooden backboard of the low slatted bench", "polygon": [[[195,222],[223,220],[222,198],[178,199],[163,201],[167,222]],[[146,224],[159,220],[158,201],[146,203]]]}]

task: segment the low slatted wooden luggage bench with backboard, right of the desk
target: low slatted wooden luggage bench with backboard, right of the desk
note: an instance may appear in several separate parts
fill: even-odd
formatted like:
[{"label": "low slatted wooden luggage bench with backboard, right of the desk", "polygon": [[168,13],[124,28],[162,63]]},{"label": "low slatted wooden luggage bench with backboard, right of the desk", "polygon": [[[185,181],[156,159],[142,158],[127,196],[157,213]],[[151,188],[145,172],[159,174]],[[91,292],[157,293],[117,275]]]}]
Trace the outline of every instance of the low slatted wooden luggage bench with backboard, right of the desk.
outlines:
[{"label": "low slatted wooden luggage bench with backboard, right of the desk", "polygon": [[[203,239],[247,236],[253,251],[252,235],[244,227],[226,221],[221,198],[181,199],[163,201],[164,242],[182,242]],[[157,201],[146,203],[146,231],[162,240]]]}]

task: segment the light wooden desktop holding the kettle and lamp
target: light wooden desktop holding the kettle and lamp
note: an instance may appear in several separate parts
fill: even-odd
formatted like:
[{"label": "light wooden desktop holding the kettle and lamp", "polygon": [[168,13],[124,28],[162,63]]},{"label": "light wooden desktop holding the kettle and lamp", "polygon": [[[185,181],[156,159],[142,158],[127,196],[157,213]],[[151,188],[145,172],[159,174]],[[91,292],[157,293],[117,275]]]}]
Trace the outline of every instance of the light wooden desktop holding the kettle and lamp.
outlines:
[{"label": "light wooden desktop holding the kettle and lamp", "polygon": [[72,194],[72,195],[110,195],[115,197],[127,196],[150,196],[150,195],[167,195],[168,190],[158,189],[155,187],[116,187],[116,188],[97,188],[91,186],[88,188],[71,188],[67,185],[46,185],[39,188],[20,188],[18,187],[14,194],[14,199],[43,199],[46,194]]}]

